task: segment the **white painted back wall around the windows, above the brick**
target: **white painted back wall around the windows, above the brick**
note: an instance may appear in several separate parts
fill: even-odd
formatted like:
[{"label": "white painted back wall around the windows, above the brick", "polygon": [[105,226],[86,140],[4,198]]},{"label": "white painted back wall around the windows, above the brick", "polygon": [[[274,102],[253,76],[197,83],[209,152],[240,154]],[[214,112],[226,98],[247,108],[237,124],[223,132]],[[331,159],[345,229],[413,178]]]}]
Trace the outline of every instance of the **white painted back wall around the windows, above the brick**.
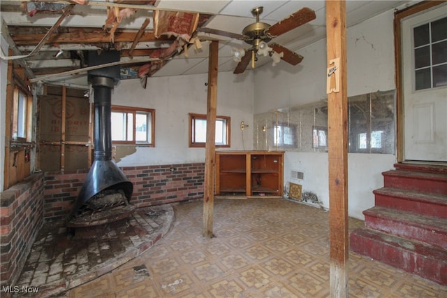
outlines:
[{"label": "white painted back wall around the windows, above the brick", "polygon": [[[189,148],[189,113],[207,113],[207,74],[122,80],[112,92],[112,104],[155,109],[155,147],[138,147],[122,158],[119,166],[205,162],[204,148]],[[240,122],[253,122],[253,73],[239,80],[231,72],[217,77],[217,115],[230,116],[229,150],[253,149],[251,127],[240,130]]]}]

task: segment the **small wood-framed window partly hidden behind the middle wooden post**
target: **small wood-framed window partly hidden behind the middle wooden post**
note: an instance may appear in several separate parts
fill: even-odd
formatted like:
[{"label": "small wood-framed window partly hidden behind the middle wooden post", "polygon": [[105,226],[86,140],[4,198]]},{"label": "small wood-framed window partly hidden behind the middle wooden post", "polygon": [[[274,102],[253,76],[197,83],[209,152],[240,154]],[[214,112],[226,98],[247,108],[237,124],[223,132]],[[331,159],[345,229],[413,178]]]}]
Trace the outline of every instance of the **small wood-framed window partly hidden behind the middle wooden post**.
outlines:
[{"label": "small wood-framed window partly hidden behind the middle wooden post", "polygon": [[[207,115],[189,114],[189,147],[205,147]],[[230,117],[216,117],[216,146],[230,147]]]}]

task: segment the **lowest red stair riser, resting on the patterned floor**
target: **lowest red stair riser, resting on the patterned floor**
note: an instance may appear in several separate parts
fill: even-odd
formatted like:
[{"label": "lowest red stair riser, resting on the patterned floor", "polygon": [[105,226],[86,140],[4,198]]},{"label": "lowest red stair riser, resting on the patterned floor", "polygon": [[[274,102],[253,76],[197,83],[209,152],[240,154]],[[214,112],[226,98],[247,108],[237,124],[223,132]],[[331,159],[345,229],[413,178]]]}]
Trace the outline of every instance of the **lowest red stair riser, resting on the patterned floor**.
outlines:
[{"label": "lowest red stair riser, resting on the patterned floor", "polygon": [[426,257],[356,234],[351,234],[351,250],[435,283],[447,285],[447,260]]}]

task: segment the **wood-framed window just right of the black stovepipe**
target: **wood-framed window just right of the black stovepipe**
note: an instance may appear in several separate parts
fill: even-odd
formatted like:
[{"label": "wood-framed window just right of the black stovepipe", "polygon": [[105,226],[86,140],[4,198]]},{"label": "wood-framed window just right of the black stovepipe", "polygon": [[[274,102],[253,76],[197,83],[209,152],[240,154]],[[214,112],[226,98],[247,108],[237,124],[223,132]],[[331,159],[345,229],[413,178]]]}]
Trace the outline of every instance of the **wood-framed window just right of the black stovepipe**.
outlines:
[{"label": "wood-framed window just right of the black stovepipe", "polygon": [[155,110],[112,106],[112,143],[154,146]]}]

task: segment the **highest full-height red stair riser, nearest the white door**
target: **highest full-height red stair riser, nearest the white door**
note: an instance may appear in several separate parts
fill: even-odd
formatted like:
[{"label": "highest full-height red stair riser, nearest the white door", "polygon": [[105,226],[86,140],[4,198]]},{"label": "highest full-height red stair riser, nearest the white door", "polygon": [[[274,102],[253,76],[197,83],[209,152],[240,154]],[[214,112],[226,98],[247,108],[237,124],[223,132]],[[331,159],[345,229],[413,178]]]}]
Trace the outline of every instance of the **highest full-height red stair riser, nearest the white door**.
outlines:
[{"label": "highest full-height red stair riser, nearest the white door", "polygon": [[407,176],[383,176],[385,187],[400,188],[402,190],[419,191],[426,194],[444,194],[447,196],[446,180],[424,180]]}]

